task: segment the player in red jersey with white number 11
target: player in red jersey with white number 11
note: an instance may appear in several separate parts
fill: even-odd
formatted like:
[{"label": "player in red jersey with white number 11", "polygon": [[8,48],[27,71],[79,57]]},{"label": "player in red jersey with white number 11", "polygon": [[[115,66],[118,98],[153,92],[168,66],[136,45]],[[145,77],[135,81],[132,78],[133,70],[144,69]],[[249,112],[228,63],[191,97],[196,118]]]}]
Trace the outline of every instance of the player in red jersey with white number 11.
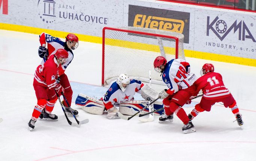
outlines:
[{"label": "player in red jersey with white number 11", "polygon": [[212,64],[204,64],[200,74],[202,77],[198,78],[194,85],[196,86],[196,93],[201,89],[203,97],[199,104],[188,114],[190,120],[196,117],[200,112],[211,111],[211,107],[216,102],[223,102],[224,106],[229,107],[236,117],[239,126],[242,126],[243,121],[239,113],[236,101],[231,95],[230,91],[224,86],[221,74],[214,72]]}]

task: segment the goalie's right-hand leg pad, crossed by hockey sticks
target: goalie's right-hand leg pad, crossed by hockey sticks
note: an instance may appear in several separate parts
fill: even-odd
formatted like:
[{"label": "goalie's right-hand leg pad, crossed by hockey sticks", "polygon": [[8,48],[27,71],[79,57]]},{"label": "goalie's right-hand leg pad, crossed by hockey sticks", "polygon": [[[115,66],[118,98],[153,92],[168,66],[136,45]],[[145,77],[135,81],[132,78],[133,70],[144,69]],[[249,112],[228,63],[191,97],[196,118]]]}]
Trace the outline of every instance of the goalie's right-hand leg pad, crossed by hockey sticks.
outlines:
[{"label": "goalie's right-hand leg pad, crossed by hockey sticks", "polygon": [[[125,115],[134,115],[136,114],[139,110],[147,106],[149,103],[146,100],[132,100],[128,102],[121,102],[119,105],[119,112],[121,114]],[[156,101],[154,102],[154,109],[160,109],[163,108],[163,103]],[[141,111],[141,114],[148,113],[149,109],[146,108],[143,111]],[[156,115],[162,115],[164,114],[164,110],[155,112]]]}]

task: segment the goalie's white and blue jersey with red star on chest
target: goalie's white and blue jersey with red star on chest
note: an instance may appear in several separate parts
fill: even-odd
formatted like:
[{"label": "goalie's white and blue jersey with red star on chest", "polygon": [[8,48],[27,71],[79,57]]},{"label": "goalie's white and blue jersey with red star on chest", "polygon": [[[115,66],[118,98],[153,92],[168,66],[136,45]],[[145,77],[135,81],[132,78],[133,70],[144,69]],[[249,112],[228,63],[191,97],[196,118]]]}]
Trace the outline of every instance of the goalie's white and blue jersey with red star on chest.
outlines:
[{"label": "goalie's white and blue jersey with red star on chest", "polygon": [[122,92],[116,81],[112,81],[107,92],[103,96],[103,103],[105,108],[110,109],[114,106],[115,103],[132,100],[135,93],[140,93],[140,89],[143,86],[144,84],[141,81],[131,80],[129,86],[126,87],[125,92]]}]

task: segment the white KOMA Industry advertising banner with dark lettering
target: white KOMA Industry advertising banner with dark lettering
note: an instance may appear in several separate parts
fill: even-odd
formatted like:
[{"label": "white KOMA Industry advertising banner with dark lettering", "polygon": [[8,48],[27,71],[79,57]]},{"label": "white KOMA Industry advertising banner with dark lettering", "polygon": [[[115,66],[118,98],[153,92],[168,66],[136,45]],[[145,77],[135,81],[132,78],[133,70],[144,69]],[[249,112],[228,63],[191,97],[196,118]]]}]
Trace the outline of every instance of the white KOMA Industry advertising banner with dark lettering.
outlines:
[{"label": "white KOMA Industry advertising banner with dark lettering", "polygon": [[197,9],[194,50],[256,59],[256,16]]}]

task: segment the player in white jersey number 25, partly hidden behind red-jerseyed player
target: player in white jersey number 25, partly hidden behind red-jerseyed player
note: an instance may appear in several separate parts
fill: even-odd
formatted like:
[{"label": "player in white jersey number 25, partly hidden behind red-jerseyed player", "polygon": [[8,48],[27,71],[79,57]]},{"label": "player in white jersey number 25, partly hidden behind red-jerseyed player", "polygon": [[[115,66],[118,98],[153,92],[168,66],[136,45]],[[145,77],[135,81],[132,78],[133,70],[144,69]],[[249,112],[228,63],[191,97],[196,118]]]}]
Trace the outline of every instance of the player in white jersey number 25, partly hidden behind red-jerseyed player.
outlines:
[{"label": "player in white jersey number 25, partly hidden behind red-jerseyed player", "polygon": [[[44,59],[41,64],[44,64],[51,55],[54,55],[57,49],[65,49],[68,52],[67,61],[61,65],[61,68],[59,68],[59,81],[65,88],[65,97],[68,100],[69,105],[71,105],[73,91],[71,89],[68,76],[64,72],[74,57],[72,50],[75,50],[78,47],[78,37],[75,34],[70,33],[66,36],[66,41],[61,41],[60,38],[53,37],[43,32],[39,36],[39,41],[41,46],[39,46],[38,55]],[[66,101],[62,101],[62,104],[67,114],[72,115],[70,110],[72,110],[75,115],[78,114],[77,110],[68,108]],[[42,111],[40,118],[43,118],[43,113],[44,110]]]}]

